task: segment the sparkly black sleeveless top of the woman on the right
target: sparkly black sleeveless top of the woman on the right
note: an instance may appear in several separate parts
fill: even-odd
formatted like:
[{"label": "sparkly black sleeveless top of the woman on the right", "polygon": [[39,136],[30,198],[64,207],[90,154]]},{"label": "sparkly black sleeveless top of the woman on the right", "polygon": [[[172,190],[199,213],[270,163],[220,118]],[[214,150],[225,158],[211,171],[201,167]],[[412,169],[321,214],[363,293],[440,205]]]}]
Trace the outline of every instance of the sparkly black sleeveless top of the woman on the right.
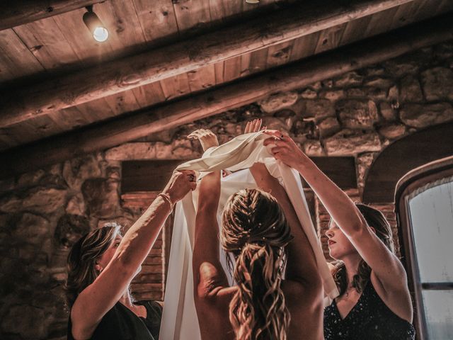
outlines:
[{"label": "sparkly black sleeveless top of the woman on the right", "polygon": [[398,317],[376,293],[371,280],[357,304],[341,319],[335,300],[324,309],[326,340],[414,340],[413,325]]}]

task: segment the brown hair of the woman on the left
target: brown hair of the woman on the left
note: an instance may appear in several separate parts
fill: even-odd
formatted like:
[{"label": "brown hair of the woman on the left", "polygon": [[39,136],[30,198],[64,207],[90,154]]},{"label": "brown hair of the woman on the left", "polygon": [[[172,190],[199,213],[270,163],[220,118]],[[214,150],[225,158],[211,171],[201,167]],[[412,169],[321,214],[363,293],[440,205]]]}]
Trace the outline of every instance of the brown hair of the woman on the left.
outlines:
[{"label": "brown hair of the woman on the left", "polygon": [[69,309],[74,305],[81,291],[99,276],[95,268],[96,261],[115,240],[120,233],[120,228],[121,226],[115,222],[106,223],[103,227],[82,236],[72,246],[67,261],[68,277],[64,284]]}]

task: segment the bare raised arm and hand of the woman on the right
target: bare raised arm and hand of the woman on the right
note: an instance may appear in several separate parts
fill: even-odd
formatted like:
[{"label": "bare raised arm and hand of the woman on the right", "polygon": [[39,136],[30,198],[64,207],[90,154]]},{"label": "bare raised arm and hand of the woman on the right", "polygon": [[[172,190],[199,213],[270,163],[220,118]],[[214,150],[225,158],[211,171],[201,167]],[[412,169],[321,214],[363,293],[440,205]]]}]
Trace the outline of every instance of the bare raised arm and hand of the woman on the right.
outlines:
[{"label": "bare raised arm and hand of the woman on the right", "polygon": [[[265,140],[265,145],[275,145],[272,149],[274,157],[299,171],[299,174],[309,183],[338,227],[350,239],[362,259],[372,268],[372,272],[382,283],[384,290],[390,295],[404,293],[408,296],[406,271],[401,262],[377,237],[372,227],[367,225],[365,218],[348,195],[323,174],[316,164],[297,147],[291,137],[278,131],[265,133],[273,136]],[[275,138],[277,138],[276,142]]]}]

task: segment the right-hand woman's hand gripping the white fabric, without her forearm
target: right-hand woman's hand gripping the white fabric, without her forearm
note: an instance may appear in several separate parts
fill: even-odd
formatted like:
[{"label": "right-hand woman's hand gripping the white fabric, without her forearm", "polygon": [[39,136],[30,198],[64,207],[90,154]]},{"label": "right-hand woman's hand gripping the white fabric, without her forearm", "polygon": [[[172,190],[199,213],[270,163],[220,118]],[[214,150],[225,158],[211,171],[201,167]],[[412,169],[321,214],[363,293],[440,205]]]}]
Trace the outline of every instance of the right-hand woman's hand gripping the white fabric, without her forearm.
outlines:
[{"label": "right-hand woman's hand gripping the white fabric, without her forearm", "polygon": [[264,141],[264,145],[271,145],[275,159],[280,159],[287,166],[297,169],[297,165],[308,158],[289,135],[277,130],[267,130],[264,133],[272,136]]}]

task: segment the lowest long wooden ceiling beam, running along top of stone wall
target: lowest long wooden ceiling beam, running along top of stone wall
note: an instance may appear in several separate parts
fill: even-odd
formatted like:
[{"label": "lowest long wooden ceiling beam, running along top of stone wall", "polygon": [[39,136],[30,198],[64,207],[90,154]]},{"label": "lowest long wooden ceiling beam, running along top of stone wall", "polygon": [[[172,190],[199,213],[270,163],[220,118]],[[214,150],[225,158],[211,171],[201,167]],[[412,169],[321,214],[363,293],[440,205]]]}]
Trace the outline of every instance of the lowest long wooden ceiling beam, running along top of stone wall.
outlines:
[{"label": "lowest long wooden ceiling beam, running along top of stone wall", "polygon": [[450,13],[189,98],[8,150],[0,154],[0,178],[115,147],[253,103],[277,91],[302,88],[452,39],[453,14]]}]

